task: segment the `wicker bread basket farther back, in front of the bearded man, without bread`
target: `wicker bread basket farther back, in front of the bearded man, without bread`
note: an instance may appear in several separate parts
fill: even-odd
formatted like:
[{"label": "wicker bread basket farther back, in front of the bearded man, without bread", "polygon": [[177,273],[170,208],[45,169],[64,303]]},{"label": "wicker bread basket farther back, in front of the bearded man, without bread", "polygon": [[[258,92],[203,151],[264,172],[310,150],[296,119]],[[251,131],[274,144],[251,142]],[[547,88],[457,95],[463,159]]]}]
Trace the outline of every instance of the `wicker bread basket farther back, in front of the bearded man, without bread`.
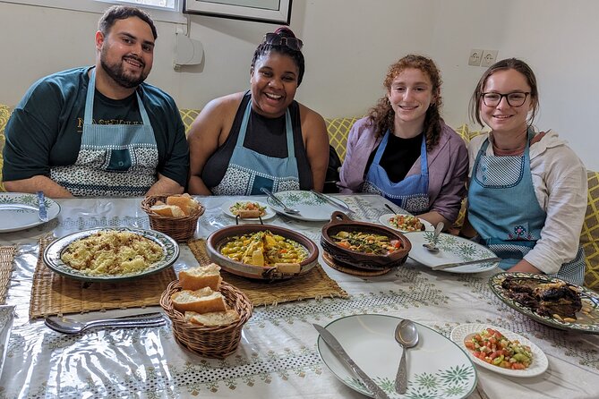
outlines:
[{"label": "wicker bread basket farther back, in front of the bearded man, without bread", "polygon": [[204,207],[194,210],[190,216],[171,217],[157,215],[150,209],[156,202],[167,203],[169,195],[149,195],[141,201],[141,209],[150,217],[150,228],[160,233],[165,233],[173,237],[178,242],[185,242],[193,238],[195,228],[198,225],[198,218],[204,213]]}]

